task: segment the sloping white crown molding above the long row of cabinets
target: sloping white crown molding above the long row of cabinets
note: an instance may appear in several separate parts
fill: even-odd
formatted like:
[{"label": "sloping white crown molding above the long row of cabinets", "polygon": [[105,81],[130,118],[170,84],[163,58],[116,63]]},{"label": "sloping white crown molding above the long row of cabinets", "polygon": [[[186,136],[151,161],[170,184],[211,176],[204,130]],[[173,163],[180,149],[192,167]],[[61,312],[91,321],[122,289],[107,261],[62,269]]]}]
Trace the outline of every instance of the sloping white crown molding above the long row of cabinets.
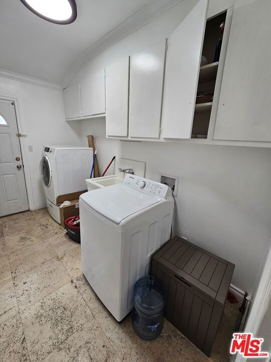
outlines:
[{"label": "sloping white crown molding above the long row of cabinets", "polygon": [[61,82],[63,88],[69,84],[73,75],[85,62],[94,58],[103,50],[109,48],[111,45],[125,38],[135,30],[148,24],[153,19],[157,18],[159,15],[165,13],[167,10],[171,9],[182,1],[183,0],[153,0],[148,5],[144,6],[131,17],[122,22],[120,25],[115,27],[113,30],[105,34],[101,39],[92,44],[75,59]]}]

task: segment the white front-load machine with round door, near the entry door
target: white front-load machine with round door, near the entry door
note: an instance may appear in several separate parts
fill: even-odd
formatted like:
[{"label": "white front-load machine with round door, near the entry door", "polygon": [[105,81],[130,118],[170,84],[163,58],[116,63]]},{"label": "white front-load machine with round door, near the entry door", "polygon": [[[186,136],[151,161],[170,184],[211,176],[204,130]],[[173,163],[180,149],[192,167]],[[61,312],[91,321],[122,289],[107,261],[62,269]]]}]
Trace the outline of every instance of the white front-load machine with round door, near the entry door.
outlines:
[{"label": "white front-load machine with round door, near the entry door", "polygon": [[92,148],[46,146],[42,150],[40,174],[49,214],[60,223],[57,197],[86,189],[93,162]]}]

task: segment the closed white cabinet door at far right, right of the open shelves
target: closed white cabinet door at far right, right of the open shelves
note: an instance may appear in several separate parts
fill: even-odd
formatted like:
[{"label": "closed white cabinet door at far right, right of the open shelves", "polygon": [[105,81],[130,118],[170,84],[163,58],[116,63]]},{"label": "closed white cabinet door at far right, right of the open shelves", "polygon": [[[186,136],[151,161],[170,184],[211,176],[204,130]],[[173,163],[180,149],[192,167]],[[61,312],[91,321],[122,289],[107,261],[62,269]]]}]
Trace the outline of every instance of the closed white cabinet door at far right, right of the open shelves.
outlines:
[{"label": "closed white cabinet door at far right, right of the open shelves", "polygon": [[236,0],[214,139],[271,141],[271,2]]}]

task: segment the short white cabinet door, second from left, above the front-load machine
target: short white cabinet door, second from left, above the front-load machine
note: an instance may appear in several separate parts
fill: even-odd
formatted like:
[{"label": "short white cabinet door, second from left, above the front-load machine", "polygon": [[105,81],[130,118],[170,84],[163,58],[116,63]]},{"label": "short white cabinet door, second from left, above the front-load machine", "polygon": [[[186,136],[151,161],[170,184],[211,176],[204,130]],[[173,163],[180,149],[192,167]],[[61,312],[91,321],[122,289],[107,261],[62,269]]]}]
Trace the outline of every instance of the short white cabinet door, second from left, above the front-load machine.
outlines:
[{"label": "short white cabinet door, second from left, above the front-load machine", "polygon": [[80,81],[82,116],[105,113],[104,69]]}]

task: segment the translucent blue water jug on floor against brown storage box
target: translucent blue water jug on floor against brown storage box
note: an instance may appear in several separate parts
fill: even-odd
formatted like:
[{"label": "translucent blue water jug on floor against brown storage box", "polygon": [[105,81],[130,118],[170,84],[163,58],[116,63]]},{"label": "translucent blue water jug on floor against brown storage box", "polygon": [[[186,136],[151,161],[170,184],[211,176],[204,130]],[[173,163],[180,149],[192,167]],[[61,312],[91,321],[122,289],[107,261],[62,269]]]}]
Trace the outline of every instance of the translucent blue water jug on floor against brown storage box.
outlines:
[{"label": "translucent blue water jug on floor against brown storage box", "polygon": [[132,326],[142,339],[152,340],[162,332],[166,291],[154,277],[143,277],[133,289]]}]

